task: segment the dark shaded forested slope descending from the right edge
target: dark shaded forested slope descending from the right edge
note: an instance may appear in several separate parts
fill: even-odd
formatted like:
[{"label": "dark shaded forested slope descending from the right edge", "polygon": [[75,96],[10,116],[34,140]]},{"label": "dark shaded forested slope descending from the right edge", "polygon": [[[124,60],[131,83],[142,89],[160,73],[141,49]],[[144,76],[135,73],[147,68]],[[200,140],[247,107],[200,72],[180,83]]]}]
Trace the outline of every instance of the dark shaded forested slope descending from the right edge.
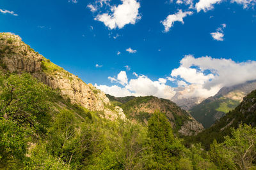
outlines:
[{"label": "dark shaded forested slope descending from the right edge", "polygon": [[[239,85],[240,86],[240,85]],[[240,87],[244,87],[241,85]],[[220,118],[216,124],[209,129],[205,129],[198,135],[191,137],[188,141],[193,143],[201,142],[209,148],[212,141],[216,139],[218,143],[224,141],[224,136],[230,136],[231,128],[235,129],[239,124],[248,124],[252,127],[256,125],[256,90],[243,98],[243,101],[224,117]]]}]

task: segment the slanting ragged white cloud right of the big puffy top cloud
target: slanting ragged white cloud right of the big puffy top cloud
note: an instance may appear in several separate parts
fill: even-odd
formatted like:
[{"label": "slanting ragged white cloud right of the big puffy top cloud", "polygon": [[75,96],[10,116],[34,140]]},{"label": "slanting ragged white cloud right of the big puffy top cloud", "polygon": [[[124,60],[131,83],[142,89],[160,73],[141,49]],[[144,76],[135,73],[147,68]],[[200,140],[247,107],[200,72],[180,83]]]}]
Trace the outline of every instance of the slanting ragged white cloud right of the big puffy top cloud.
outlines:
[{"label": "slanting ragged white cloud right of the big puffy top cloud", "polygon": [[164,32],[170,31],[170,28],[173,26],[174,22],[178,21],[184,24],[183,18],[187,15],[192,15],[192,11],[185,11],[182,12],[182,10],[179,10],[177,13],[168,15],[164,21],[161,21],[161,23],[164,25]]}]

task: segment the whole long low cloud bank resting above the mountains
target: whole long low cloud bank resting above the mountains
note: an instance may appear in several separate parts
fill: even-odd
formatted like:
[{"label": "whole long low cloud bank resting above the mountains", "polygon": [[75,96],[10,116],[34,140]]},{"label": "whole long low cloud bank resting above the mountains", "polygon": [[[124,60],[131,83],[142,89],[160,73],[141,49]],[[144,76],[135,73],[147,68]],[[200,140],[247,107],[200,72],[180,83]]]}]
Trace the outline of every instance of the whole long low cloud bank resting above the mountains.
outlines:
[{"label": "whole long low cloud bank resting above the mountains", "polygon": [[[113,96],[156,96],[172,99],[179,97],[214,96],[222,87],[230,87],[250,80],[256,80],[256,61],[234,62],[231,59],[214,59],[212,57],[195,58],[186,55],[180,60],[180,66],[172,70],[172,77],[150,80],[145,75],[133,73],[136,78],[128,79],[126,72],[121,71],[117,78],[109,77],[117,85],[99,85],[97,88]],[[166,85],[167,80],[176,82],[178,87]],[[176,96],[176,95],[175,95]]]}]

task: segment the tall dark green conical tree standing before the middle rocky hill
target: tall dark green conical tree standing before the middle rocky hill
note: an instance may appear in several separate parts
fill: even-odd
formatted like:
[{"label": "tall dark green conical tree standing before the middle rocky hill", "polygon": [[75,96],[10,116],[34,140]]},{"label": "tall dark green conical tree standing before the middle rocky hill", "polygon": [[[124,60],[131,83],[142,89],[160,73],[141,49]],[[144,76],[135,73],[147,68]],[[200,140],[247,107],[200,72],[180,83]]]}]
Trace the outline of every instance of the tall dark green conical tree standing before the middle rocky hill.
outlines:
[{"label": "tall dark green conical tree standing before the middle rocky hill", "polygon": [[173,136],[172,127],[164,113],[156,112],[148,120],[148,137],[153,155],[149,168],[175,169],[174,162],[179,159],[183,146]]}]

